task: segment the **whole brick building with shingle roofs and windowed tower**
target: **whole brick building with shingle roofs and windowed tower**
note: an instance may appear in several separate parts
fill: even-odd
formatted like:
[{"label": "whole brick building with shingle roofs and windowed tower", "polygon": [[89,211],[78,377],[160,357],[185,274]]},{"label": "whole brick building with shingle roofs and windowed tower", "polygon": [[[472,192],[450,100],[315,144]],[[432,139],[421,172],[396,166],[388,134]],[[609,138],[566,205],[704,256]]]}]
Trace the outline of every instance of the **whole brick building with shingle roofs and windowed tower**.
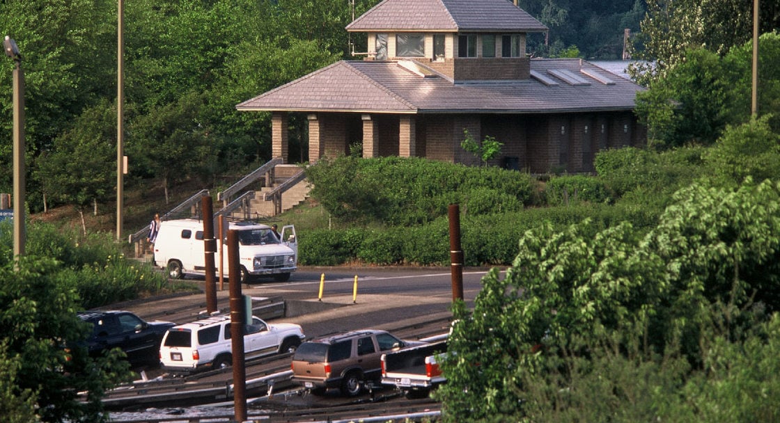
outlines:
[{"label": "whole brick building with shingle roofs and windowed tower", "polygon": [[598,150],[644,146],[627,79],[581,59],[537,59],[547,31],[507,0],[385,0],[346,30],[367,35],[363,60],[340,61],[238,104],[271,111],[274,157],[288,157],[289,113],[307,116],[309,161],[349,152],[478,164],[460,146],[502,142],[495,165],[593,171]]}]

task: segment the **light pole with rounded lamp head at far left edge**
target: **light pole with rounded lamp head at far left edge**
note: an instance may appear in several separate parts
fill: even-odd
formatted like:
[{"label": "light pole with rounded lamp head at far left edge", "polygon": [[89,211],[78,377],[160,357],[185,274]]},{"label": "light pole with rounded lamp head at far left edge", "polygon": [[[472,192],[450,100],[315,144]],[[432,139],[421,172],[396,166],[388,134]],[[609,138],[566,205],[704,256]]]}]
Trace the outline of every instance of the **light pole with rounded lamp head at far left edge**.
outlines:
[{"label": "light pole with rounded lamp head at far left edge", "polygon": [[24,254],[24,73],[22,55],[16,41],[7,35],[2,41],[5,55],[13,59],[13,257]]}]

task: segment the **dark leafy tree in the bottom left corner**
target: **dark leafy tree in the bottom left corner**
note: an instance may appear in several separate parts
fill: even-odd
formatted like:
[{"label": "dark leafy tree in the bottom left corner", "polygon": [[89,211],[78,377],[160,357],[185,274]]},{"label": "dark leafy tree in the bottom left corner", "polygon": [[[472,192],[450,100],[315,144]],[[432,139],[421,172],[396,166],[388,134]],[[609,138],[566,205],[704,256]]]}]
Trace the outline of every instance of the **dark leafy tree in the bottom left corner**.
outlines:
[{"label": "dark leafy tree in the bottom left corner", "polygon": [[[3,379],[2,392],[15,401],[3,404],[9,418],[41,421],[105,421],[101,397],[115,384],[128,381],[129,365],[116,354],[90,358],[83,340],[89,326],[77,316],[78,298],[56,279],[52,259],[23,256],[0,267],[5,280],[0,291],[0,358],[12,379]],[[87,401],[76,397],[87,392]],[[34,404],[34,408],[30,405]],[[35,421],[35,418],[31,421]]]}]

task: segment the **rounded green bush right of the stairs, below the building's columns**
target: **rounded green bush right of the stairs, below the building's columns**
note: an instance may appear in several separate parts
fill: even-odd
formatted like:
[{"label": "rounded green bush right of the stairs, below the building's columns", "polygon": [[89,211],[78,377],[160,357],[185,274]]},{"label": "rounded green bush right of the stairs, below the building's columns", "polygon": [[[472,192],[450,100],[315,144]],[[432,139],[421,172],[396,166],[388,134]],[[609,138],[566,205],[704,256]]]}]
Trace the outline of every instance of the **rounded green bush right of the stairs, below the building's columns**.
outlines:
[{"label": "rounded green bush right of the stairs, below the building's columns", "polygon": [[[363,224],[424,224],[445,216],[449,204],[469,198],[473,208],[486,213],[535,203],[529,174],[419,157],[323,159],[307,168],[307,177],[314,185],[311,196],[328,213]],[[485,190],[497,197],[475,194]]]}]

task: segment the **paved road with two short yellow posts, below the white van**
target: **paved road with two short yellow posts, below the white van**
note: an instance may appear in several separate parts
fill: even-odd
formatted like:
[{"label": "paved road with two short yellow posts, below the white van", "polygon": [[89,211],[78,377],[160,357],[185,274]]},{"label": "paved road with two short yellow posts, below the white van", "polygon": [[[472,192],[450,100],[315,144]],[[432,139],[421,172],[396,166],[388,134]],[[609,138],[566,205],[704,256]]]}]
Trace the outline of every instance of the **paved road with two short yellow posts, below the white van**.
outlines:
[{"label": "paved road with two short yellow posts, below the white van", "polygon": [[[463,296],[467,305],[480,290],[480,279],[486,269],[463,270]],[[319,298],[324,275],[322,298]],[[357,276],[357,296],[353,288]],[[191,280],[203,288],[204,280]],[[217,291],[219,307],[229,304],[227,280]],[[452,275],[449,268],[302,268],[293,273],[289,282],[261,280],[243,285],[242,293],[254,298],[281,298],[292,314],[285,322],[303,326],[307,337],[341,330],[398,326],[401,320],[414,321],[450,313],[452,305]],[[114,308],[128,309],[142,317],[159,316],[174,308],[188,308],[197,315],[205,309],[205,294],[176,298],[147,298],[130,301]],[[295,308],[295,310],[293,310]],[[158,317],[159,318],[159,317]],[[165,319],[164,317],[161,319]],[[192,320],[188,319],[188,320]],[[177,322],[176,323],[183,323]]]}]

